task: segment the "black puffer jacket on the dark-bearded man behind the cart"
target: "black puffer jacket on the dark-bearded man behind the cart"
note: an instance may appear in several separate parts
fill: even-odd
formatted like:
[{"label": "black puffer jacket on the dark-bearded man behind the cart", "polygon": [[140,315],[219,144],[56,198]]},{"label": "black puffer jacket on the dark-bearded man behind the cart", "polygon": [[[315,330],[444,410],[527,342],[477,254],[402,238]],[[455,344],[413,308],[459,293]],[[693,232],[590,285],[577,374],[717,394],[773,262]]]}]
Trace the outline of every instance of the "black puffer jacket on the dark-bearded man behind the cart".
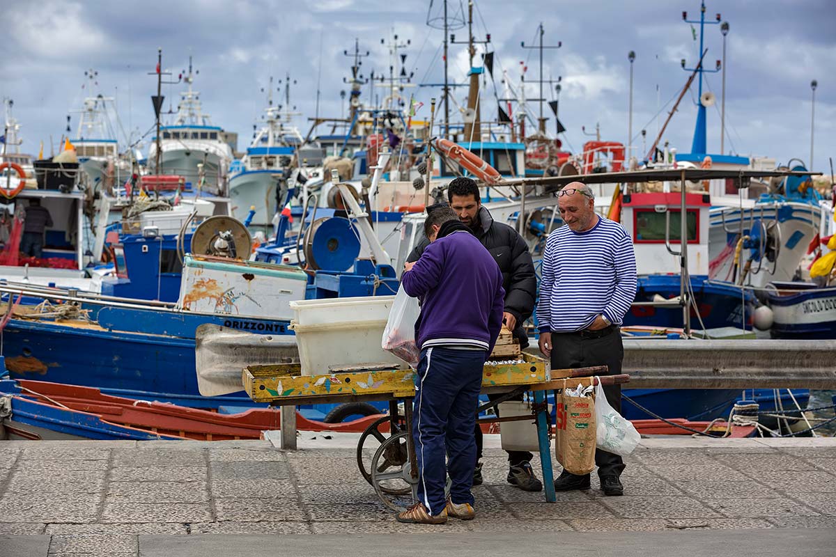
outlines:
[{"label": "black puffer jacket on the dark-bearded man behind the cart", "polygon": [[[477,238],[482,242],[502,271],[502,287],[505,289],[505,311],[517,318],[514,337],[520,339],[523,347],[528,346],[528,337],[523,329],[523,322],[534,311],[537,296],[537,276],[528,245],[517,230],[508,225],[495,222],[491,213],[482,206],[479,209],[479,230]],[[421,253],[430,241],[421,240],[412,250],[406,261],[418,261]]]}]

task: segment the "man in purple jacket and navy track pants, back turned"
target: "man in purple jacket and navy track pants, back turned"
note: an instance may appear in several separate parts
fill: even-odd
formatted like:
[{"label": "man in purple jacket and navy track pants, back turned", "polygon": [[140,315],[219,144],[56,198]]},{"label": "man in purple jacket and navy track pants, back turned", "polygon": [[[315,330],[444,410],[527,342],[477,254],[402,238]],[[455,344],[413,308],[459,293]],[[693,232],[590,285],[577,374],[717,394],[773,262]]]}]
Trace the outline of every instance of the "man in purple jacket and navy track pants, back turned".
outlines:
[{"label": "man in purple jacket and navy track pants, back turned", "polygon": [[[412,422],[419,502],[396,518],[442,524],[448,515],[475,516],[473,430],[482,368],[502,327],[505,291],[496,261],[450,207],[431,211],[424,230],[431,244],[418,261],[406,264],[401,277],[406,293],[421,301]],[[449,500],[444,495],[447,474]]]}]

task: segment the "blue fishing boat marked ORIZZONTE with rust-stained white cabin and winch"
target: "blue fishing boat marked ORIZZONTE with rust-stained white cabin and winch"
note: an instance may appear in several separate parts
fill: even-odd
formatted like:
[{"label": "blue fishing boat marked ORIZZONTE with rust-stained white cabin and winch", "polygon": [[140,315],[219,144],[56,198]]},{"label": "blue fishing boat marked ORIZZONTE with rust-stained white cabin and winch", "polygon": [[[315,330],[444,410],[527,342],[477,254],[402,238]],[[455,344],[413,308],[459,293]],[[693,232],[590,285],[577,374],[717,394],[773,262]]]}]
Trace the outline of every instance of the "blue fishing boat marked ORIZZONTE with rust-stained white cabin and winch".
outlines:
[{"label": "blue fishing boat marked ORIZZONTE with rust-stained white cabin and winch", "polygon": [[[166,251],[163,238],[147,234],[130,238],[129,250],[117,255],[117,261],[125,256],[138,256],[140,261],[125,266],[125,278],[117,275],[115,283],[105,281],[102,290],[116,296],[0,284],[7,302],[3,356],[11,377],[100,387],[110,394],[195,408],[246,405],[249,398],[240,391],[225,397],[201,394],[195,373],[196,331],[207,325],[271,339],[288,335],[293,316],[288,302],[305,297],[308,276],[298,267],[228,257],[232,245],[237,245],[235,253],[248,255],[250,250],[242,225],[237,225],[238,234],[229,232],[230,226],[225,220],[206,220],[198,227],[191,241],[195,255],[186,255],[182,271],[174,273],[180,285],[173,302],[118,296],[131,290],[132,281],[137,281],[135,290],[156,291],[165,274],[156,271],[155,281],[148,285],[148,277],[133,271],[159,270],[161,261],[179,263],[176,246]],[[213,257],[222,245],[226,257]],[[210,255],[197,255],[206,253]],[[292,341],[288,344],[295,349]]]}]

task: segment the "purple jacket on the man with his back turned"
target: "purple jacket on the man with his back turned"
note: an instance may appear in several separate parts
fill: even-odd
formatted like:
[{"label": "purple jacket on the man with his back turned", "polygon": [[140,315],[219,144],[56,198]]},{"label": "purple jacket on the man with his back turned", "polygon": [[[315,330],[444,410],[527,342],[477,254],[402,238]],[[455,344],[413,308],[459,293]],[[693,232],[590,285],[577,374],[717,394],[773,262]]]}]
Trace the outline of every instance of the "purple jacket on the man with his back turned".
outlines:
[{"label": "purple jacket on the man with his back turned", "polygon": [[476,236],[456,231],[432,242],[400,279],[421,300],[421,349],[465,344],[490,354],[502,328],[505,291],[497,262]]}]

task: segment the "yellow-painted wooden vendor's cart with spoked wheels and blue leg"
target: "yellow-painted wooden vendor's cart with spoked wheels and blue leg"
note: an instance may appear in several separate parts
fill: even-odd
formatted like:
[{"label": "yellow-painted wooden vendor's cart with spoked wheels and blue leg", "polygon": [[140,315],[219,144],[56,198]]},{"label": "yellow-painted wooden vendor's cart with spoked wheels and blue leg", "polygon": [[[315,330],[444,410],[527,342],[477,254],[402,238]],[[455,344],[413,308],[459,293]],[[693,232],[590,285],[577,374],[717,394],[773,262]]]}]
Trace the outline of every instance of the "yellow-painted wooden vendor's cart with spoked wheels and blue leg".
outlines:
[{"label": "yellow-painted wooden vendor's cart with spoked wheels and blue leg", "polygon": [[[523,353],[513,362],[487,362],[482,375],[482,393],[504,393],[484,404],[479,412],[496,408],[522,392],[533,392],[533,414],[507,418],[488,418],[485,422],[534,420],[537,423],[540,463],[546,500],[556,501],[553,484],[550,427],[546,392],[578,383],[594,384],[606,367],[549,369],[548,362]],[[600,377],[604,384],[626,382],[626,375]],[[389,401],[390,413],[370,425],[359,438],[357,463],[360,473],[375,488],[388,507],[402,510],[415,499],[418,484],[417,463],[413,455],[412,399],[415,372],[389,364],[346,367],[319,375],[302,375],[299,364],[246,367],[242,372],[244,390],[253,401],[290,407],[315,403]],[[295,417],[295,412],[293,413]],[[375,445],[379,443],[379,445]],[[373,450],[374,449],[374,450]],[[448,486],[449,487],[449,486]]]}]

